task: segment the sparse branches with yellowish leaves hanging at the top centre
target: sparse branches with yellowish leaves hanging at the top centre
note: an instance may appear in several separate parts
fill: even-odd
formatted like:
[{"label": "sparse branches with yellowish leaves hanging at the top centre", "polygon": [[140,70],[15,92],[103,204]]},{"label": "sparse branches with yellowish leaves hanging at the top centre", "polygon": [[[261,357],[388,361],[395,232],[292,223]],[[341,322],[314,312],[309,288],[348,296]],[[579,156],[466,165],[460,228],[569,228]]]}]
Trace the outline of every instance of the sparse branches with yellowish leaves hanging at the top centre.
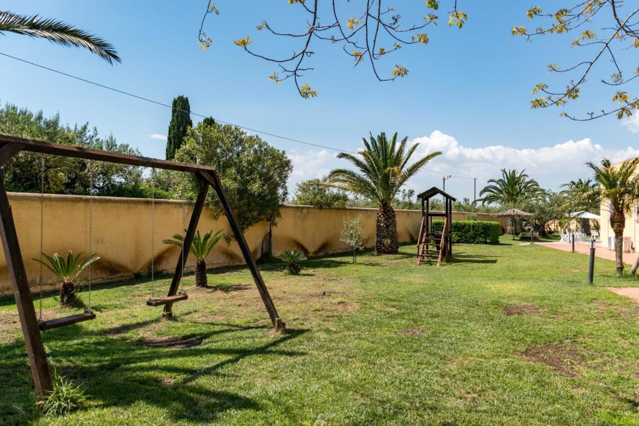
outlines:
[{"label": "sparse branches with yellowish leaves hanging at the top centre", "polygon": [[[354,66],[368,62],[373,74],[379,81],[394,81],[408,75],[408,68],[396,64],[388,73],[381,71],[378,61],[393,52],[399,51],[405,45],[427,44],[429,36],[423,31],[431,24],[437,24],[439,17],[435,11],[440,7],[439,0],[426,0],[426,15],[422,21],[403,25],[401,15],[393,6],[384,6],[383,0],[359,0],[359,10],[355,16],[343,14],[344,7],[338,1],[318,0],[287,0],[289,4],[302,8],[307,20],[304,29],[298,32],[281,31],[275,29],[268,22],[262,21],[256,26],[257,31],[264,31],[273,36],[287,37],[300,40],[300,48],[290,55],[276,58],[259,53],[250,45],[254,40],[250,36],[238,38],[235,44],[242,47],[247,53],[260,59],[277,64],[279,70],[273,72],[270,81],[275,84],[293,79],[298,93],[304,99],[314,98],[318,91],[311,88],[309,83],[302,83],[300,79],[304,73],[314,68],[305,65],[315,52],[312,50],[314,43],[319,41],[341,44],[344,53],[351,57]],[[352,3],[349,2],[352,8]],[[462,10],[458,10],[457,1],[453,1],[453,10],[449,12],[449,26],[462,28],[468,16]],[[199,42],[203,49],[211,45],[211,39],[203,32],[204,21],[210,13],[219,14],[215,5],[208,3],[206,13],[202,20],[199,33]],[[320,19],[326,17],[326,19]]]}]

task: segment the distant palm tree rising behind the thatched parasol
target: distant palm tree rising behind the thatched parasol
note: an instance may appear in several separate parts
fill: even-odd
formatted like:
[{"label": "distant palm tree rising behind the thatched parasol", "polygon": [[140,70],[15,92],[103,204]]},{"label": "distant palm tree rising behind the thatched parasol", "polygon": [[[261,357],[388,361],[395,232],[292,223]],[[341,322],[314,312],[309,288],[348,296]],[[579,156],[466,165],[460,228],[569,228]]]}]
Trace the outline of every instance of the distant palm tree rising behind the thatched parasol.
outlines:
[{"label": "distant palm tree rising behind the thatched parasol", "polygon": [[[514,207],[522,201],[534,200],[542,196],[544,191],[539,187],[536,180],[528,177],[525,171],[525,169],[522,171],[517,171],[516,169],[506,171],[502,169],[502,178],[488,180],[488,185],[479,193],[479,196],[484,196],[484,198],[478,198],[475,203],[481,202],[482,205],[499,204],[502,207]],[[515,235],[516,228],[514,219],[508,219],[507,232]]]}]

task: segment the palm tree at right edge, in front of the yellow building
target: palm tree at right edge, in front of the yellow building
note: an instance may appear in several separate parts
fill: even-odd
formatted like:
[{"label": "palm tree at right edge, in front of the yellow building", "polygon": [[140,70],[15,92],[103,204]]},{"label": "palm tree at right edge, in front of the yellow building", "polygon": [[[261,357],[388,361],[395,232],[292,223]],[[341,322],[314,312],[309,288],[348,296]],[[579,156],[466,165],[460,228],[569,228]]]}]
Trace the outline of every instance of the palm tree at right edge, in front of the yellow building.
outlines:
[{"label": "palm tree at right edge, in front of the yellow building", "polygon": [[601,166],[594,162],[586,165],[593,171],[594,185],[590,191],[574,194],[573,200],[567,203],[568,208],[580,207],[592,203],[592,200],[605,202],[610,217],[610,227],[615,233],[615,259],[617,260],[617,276],[624,271],[623,244],[626,215],[632,210],[633,203],[639,194],[639,157],[613,166],[610,160],[601,160]]}]

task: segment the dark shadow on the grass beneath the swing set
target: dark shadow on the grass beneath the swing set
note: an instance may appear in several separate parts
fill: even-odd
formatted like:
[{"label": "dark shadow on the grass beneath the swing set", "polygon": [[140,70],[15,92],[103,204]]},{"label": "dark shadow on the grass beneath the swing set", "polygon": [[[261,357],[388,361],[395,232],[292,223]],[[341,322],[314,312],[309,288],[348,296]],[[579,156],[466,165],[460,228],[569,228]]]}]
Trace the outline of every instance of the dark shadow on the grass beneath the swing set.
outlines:
[{"label": "dark shadow on the grass beneath the swing set", "polygon": [[[252,343],[245,343],[250,341],[249,336],[243,336],[240,338],[241,344],[225,342],[222,346],[216,345],[220,340],[215,337],[225,333],[255,333],[256,329],[269,327],[212,323],[215,329],[180,336],[183,339],[197,337],[203,340],[202,345],[183,349],[150,348],[142,340],[127,341],[114,336],[145,327],[150,322],[153,321],[122,324],[82,335],[82,338],[77,338],[75,334],[79,329],[48,333],[47,346],[54,348],[50,350],[50,356],[58,365],[59,373],[76,383],[86,383],[92,404],[125,409],[142,403],[151,413],[157,409],[157,414],[164,420],[206,423],[227,410],[258,411],[261,403],[240,393],[220,390],[219,387],[216,389],[217,385],[206,381],[203,384],[202,379],[219,376],[235,380],[234,377],[239,376],[229,374],[225,369],[255,356],[304,356],[305,352],[278,347],[309,331],[292,329],[273,338],[258,336]],[[265,339],[268,342],[264,343]],[[33,404],[33,383],[26,365],[24,342],[20,339],[4,345],[0,348],[0,357],[0,368],[16,372],[16,377],[12,377],[10,383],[4,383],[7,387],[3,386],[1,393],[4,393],[5,402],[8,398],[20,401],[24,406]],[[215,362],[203,365],[202,359],[215,359]],[[8,393],[13,396],[10,397]],[[18,411],[24,413],[29,410]],[[15,413],[15,407],[0,404],[2,418]]]}]

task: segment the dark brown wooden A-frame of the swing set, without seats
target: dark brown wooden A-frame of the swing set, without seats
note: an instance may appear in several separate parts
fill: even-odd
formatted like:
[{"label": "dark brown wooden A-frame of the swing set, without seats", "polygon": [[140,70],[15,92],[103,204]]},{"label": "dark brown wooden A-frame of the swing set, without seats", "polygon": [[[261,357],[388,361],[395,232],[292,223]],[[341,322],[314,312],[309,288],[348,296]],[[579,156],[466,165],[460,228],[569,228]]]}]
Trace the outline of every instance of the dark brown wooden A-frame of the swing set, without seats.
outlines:
[{"label": "dark brown wooden A-frame of the swing set, without seats", "polygon": [[[186,259],[189,256],[189,249],[193,242],[197,223],[202,210],[204,209],[204,201],[206,201],[208,187],[213,187],[220,199],[220,202],[222,203],[224,214],[226,214],[229,225],[231,225],[231,230],[233,231],[238,245],[240,246],[240,250],[242,251],[242,255],[250,269],[255,285],[258,287],[259,296],[262,297],[262,301],[266,306],[266,312],[268,312],[268,316],[270,317],[273,326],[276,329],[284,328],[284,323],[277,314],[277,310],[275,309],[271,296],[268,294],[268,289],[266,288],[264,280],[259,273],[258,265],[250,252],[249,245],[244,238],[244,234],[240,229],[235,213],[233,212],[233,209],[231,209],[231,205],[229,205],[226,193],[224,193],[222,182],[220,182],[214,168],[200,166],[198,164],[158,160],[148,157],[139,157],[137,155],[125,155],[116,152],[92,150],[82,148],[81,146],[59,145],[57,143],[0,135],[0,166],[4,166],[7,161],[12,159],[20,151],[61,155],[63,157],[75,157],[95,161],[113,162],[117,164],[129,164],[130,166],[186,171],[194,174],[197,178],[197,182],[199,183],[199,191],[197,193],[196,203],[189,221],[189,228],[187,228],[187,232],[184,237],[182,248],[185,250],[184,262],[186,262]],[[18,235],[15,230],[11,205],[6,193],[6,188],[4,187],[4,177],[2,173],[0,173],[0,239],[2,239],[7,271],[13,288],[15,303],[18,308],[20,326],[22,327],[24,343],[27,347],[29,365],[31,366],[31,375],[33,375],[36,395],[40,400],[42,400],[42,398],[46,397],[47,393],[53,390],[53,386],[49,372],[49,365],[47,365],[47,354],[42,344],[40,329],[38,328],[35,306],[33,306],[33,299],[31,298],[31,289],[29,288],[29,281],[27,280],[27,274],[24,269]],[[177,293],[182,277],[182,266],[183,263],[181,262],[180,256],[180,258],[178,258],[178,264],[176,265],[173,280],[171,281],[171,287],[169,288],[167,296],[175,296]],[[162,316],[171,317],[172,308],[172,303],[164,305],[164,312],[162,313]]]}]

